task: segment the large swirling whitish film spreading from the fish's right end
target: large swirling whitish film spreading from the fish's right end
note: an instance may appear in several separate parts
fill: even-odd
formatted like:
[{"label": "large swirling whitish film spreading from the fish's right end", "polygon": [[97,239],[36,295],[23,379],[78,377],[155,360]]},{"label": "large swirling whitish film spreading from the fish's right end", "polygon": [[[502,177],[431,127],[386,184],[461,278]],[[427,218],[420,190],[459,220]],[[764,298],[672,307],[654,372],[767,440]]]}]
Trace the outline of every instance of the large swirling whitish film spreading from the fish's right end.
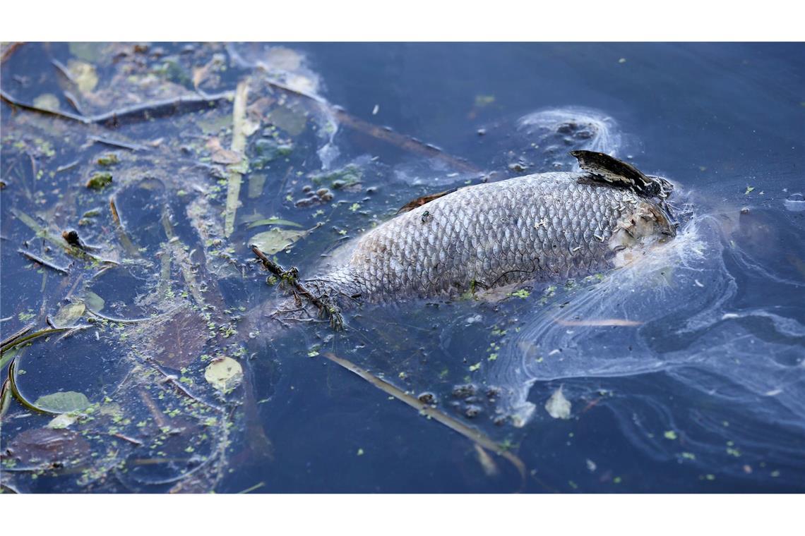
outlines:
[{"label": "large swirling whitish film spreading from the fish's right end", "polygon": [[[525,326],[487,370],[486,382],[502,386],[501,409],[524,426],[544,417],[544,383],[568,380],[572,398],[601,389],[606,378],[632,378],[634,390],[607,405],[638,448],[679,456],[679,444],[657,432],[683,427],[699,463],[708,453],[723,455],[729,442],[740,445],[746,464],[805,471],[803,319],[741,305],[730,266],[755,263],[725,238],[720,220],[695,217],[642,260],[526,313]],[[802,293],[802,284],[777,279]],[[665,374],[671,391],[640,392],[647,374]]]}]

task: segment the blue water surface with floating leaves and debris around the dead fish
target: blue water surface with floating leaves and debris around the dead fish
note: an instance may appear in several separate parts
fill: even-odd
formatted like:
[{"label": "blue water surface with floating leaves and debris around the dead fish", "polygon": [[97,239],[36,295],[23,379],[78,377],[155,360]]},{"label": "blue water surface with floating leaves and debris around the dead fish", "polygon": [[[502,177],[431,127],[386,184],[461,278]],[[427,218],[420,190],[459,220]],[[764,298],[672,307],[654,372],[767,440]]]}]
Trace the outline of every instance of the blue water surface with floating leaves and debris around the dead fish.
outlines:
[{"label": "blue water surface with floating leaves and debris around the dead fish", "polygon": [[[3,102],[2,338],[88,326],[3,355],[35,406],[86,397],[56,423],[9,398],[4,489],[802,492],[803,60],[799,43],[19,47],[2,89],[26,104],[91,117],[241,83],[249,122],[229,99],[101,125]],[[250,323],[283,296],[258,233],[305,275],[411,198],[571,169],[579,147],[675,182],[678,238],[587,280],[367,306],[339,333]],[[97,258],[64,250],[68,228]],[[326,352],[430,393],[525,478]],[[223,357],[243,371],[226,393],[206,374]],[[566,419],[546,409],[559,391]]]}]

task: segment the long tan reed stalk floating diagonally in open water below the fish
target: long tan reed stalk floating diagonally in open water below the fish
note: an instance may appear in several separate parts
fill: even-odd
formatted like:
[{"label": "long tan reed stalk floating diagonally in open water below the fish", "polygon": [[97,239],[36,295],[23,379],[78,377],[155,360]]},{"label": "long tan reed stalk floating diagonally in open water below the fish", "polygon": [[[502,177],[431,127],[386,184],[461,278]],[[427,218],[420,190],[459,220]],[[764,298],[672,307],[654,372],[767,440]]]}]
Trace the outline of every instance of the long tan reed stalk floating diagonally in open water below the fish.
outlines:
[{"label": "long tan reed stalk floating diagonally in open water below the fish", "polygon": [[475,428],[471,428],[466,424],[460,422],[452,418],[450,415],[444,414],[442,411],[437,410],[435,407],[431,407],[426,403],[422,403],[419,399],[414,398],[411,395],[408,395],[405,391],[398,389],[398,387],[394,387],[390,383],[383,381],[382,379],[378,378],[374,374],[370,373],[368,370],[362,369],[360,366],[355,365],[353,362],[348,361],[344,358],[339,358],[335,354],[331,352],[325,352],[325,358],[328,358],[330,361],[336,363],[344,367],[346,370],[349,370],[353,374],[357,374],[361,378],[365,379],[367,382],[374,385],[381,391],[384,391],[388,395],[393,396],[395,399],[398,399],[400,402],[407,403],[409,406],[413,407],[414,409],[418,410],[421,415],[425,415],[430,419],[436,420],[436,422],[444,424],[444,426],[450,428],[453,432],[458,432],[462,436],[466,437],[467,439],[473,441],[473,443],[477,444],[482,448],[486,448],[490,452],[494,452],[497,456],[502,456],[506,458],[515,468],[517,468],[518,473],[520,474],[520,478],[522,479],[521,486],[525,484],[526,481],[526,464],[522,462],[522,460],[516,456],[513,452],[510,452],[503,448],[500,444],[495,443],[493,440],[489,438],[489,436],[485,436],[481,432],[478,432]]}]

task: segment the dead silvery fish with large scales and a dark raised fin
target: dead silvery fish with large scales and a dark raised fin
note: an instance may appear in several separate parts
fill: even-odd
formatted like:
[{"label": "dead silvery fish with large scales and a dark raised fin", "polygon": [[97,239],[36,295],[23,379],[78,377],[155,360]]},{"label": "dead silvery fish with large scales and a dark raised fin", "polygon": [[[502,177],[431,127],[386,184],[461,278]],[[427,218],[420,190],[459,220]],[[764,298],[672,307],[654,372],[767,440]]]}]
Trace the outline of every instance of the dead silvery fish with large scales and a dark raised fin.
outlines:
[{"label": "dead silvery fish with large scales and a dark raised fin", "polygon": [[456,296],[588,275],[675,236],[670,182],[605,153],[572,155],[580,172],[526,175],[409,203],[415,208],[362,235],[343,262],[307,283],[342,304]]}]

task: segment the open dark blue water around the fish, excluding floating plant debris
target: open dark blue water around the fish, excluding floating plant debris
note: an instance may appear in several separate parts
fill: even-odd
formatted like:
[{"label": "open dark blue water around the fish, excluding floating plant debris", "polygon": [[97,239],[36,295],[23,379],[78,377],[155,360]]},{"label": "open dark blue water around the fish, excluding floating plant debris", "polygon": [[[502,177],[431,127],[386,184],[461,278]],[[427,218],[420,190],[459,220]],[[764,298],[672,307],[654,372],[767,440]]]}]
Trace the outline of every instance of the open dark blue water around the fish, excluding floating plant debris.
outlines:
[{"label": "open dark blue water around the fish, excluding floating plant debris", "polygon": [[[251,358],[244,364],[257,409],[235,422],[238,427],[259,423],[271,453],[250,454],[236,430],[229,445],[233,456],[217,492],[254,485],[261,492],[521,488],[518,473],[505,460],[491,455],[497,473],[485,473],[464,437],[332,362],[308,358],[311,349],[349,358],[413,393],[435,393],[448,414],[517,452],[526,464],[522,489],[527,492],[805,490],[805,211],[797,196],[805,192],[801,43],[286,46],[303,53],[306,67],[319,77],[318,94],[328,102],[353,117],[436,145],[479,170],[497,172],[493,180],[516,175],[509,168],[512,162],[527,161],[529,172],[551,170],[546,163],[553,157],[545,156],[544,147],[531,146],[535,139],[518,129],[520,117],[548,108],[597,110],[615,122],[619,157],[671,178],[684,192],[694,207],[691,221],[699,225],[691,235],[704,245],[688,264],[681,261],[687,259],[685,252],[673,258],[680,260],[678,270],[663,293],[643,293],[634,280],[614,277],[609,287],[601,287],[612,292],[601,291],[595,303],[588,303],[564,290],[561,281],[557,296],[549,296],[547,303],[539,301],[544,288],[532,288],[524,300],[500,303],[414,302],[367,308],[349,319],[353,330],[335,337],[327,329],[305,326],[270,341],[251,339],[245,343]],[[163,47],[170,54],[182,46]],[[27,91],[31,101],[42,92],[32,89],[36,84],[52,84],[36,74],[43,71],[39,63],[45,55],[26,49],[16,54],[17,63],[3,65],[2,87],[21,99]],[[66,62],[69,52],[54,47],[48,54]],[[234,88],[237,75],[246,71],[232,68],[223,87]],[[34,81],[27,89],[18,88],[14,75]],[[13,128],[6,104],[2,114],[5,138]],[[183,135],[160,121],[121,132],[132,139],[153,139],[160,129],[163,135]],[[485,129],[485,135],[478,129]],[[340,154],[331,167],[357,162],[364,170],[361,188],[336,192],[335,201],[322,207],[295,207],[285,196],[303,196],[304,178],[320,170],[316,148],[323,143],[313,136],[297,144],[290,166],[303,171],[298,184],[280,182],[282,173],[271,171],[262,193],[248,199],[242,193],[238,209],[239,215],[277,215],[309,228],[320,221],[313,213],[322,208],[328,218],[324,227],[278,256],[301,270],[315,265],[345,236],[389,218],[407,199],[477,182],[480,176],[340,127],[332,140]],[[9,151],[4,143],[6,161]],[[72,160],[71,154],[60,156],[54,166]],[[567,165],[564,157],[557,158]],[[34,209],[13,186],[2,193],[0,317],[11,317],[2,323],[4,338],[27,323],[19,313],[35,314],[42,304],[42,277],[16,252],[27,235],[10,215],[10,207]],[[373,186],[376,191],[367,193]],[[146,190],[133,189],[118,198],[121,203],[130,198],[128,226],[138,243],[156,247],[163,240],[154,223],[163,201],[153,190],[143,194]],[[55,203],[49,195],[43,194],[42,205]],[[184,211],[181,201],[167,198],[166,203],[176,213]],[[360,207],[349,210],[353,203]],[[741,213],[744,207],[748,210]],[[192,228],[182,218],[175,217],[175,226],[192,242]],[[233,256],[242,262],[250,259],[246,244],[253,234],[239,223],[231,238]],[[675,264],[673,259],[669,263]],[[250,308],[275,299],[275,289],[266,287],[254,266],[242,274],[221,277],[226,305]],[[122,304],[114,316],[149,313],[146,306],[126,305],[142,293],[136,283],[112,278],[99,285],[94,292],[107,299],[114,295]],[[597,317],[630,317],[646,324],[639,329],[568,329],[546,324],[539,312],[559,311],[577,301],[580,315],[594,310]],[[473,317],[480,320],[467,321]],[[689,318],[698,319],[696,326],[685,325]],[[507,333],[501,334],[504,329]],[[55,362],[45,366],[40,360],[39,369],[29,355],[26,375],[38,379],[39,393],[92,391],[89,385],[104,393],[102,386],[125,376],[116,359],[126,350],[122,342],[93,342],[83,333],[72,341],[60,343],[62,350],[48,350]],[[547,372],[523,365],[523,356],[530,355],[524,345],[547,341],[572,357],[561,358]],[[502,348],[495,362],[487,360],[490,345]],[[543,350],[547,355],[552,348]],[[37,347],[30,351],[35,354]],[[473,375],[469,366],[476,362],[483,362],[483,369]],[[2,374],[5,378],[6,371]],[[529,381],[530,391],[523,390]],[[467,382],[478,386],[483,399],[474,418],[451,395],[454,386]],[[490,386],[529,393],[527,402],[535,410],[524,426],[511,420],[493,423],[495,415],[516,412],[516,404],[505,396],[498,403],[486,400]],[[572,403],[570,419],[553,419],[544,409],[560,386]],[[4,417],[3,448],[20,431],[49,420],[25,413],[12,406],[7,415],[17,417]],[[81,490],[74,478],[13,476],[20,490]],[[119,484],[97,489],[163,491],[148,485],[159,480],[152,477],[136,482],[122,477]]]}]

